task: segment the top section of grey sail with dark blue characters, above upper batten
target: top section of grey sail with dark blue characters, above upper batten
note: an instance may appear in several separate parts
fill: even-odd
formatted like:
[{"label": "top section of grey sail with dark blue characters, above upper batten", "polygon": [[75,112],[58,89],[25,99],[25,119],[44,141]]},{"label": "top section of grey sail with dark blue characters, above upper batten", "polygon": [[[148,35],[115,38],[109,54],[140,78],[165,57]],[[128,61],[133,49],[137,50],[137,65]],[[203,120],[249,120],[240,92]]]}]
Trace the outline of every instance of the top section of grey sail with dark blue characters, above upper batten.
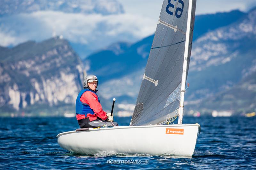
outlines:
[{"label": "top section of grey sail with dark blue characters, above upper batten", "polygon": [[[172,8],[171,7],[172,5],[169,4],[168,0],[165,0],[163,2],[159,19],[168,24],[171,24],[172,26],[177,26],[179,30],[186,32],[187,17],[188,17],[188,2],[189,2],[188,0],[183,0],[184,6],[183,6],[182,14],[180,18],[177,18],[175,15],[175,12],[177,10],[177,7],[182,9],[181,3],[179,3],[179,0],[177,1],[171,0],[170,3],[174,5],[174,7]],[[172,15],[170,14],[170,12],[169,13],[166,12],[167,6],[169,6],[168,10],[172,12]],[[179,11],[178,11],[178,14],[180,14]]]}]

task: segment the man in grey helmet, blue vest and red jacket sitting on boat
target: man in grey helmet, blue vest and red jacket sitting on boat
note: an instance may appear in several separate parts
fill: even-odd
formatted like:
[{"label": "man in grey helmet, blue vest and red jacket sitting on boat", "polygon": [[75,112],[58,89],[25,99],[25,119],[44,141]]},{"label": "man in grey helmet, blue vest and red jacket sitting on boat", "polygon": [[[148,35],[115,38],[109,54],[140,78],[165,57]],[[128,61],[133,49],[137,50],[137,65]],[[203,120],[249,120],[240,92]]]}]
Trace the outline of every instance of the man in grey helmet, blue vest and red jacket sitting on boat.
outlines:
[{"label": "man in grey helmet, blue vest and red jacket sitting on boat", "polygon": [[97,128],[118,126],[113,122],[111,113],[102,110],[98,90],[98,78],[95,75],[88,75],[84,78],[84,89],[76,98],[76,119],[80,128]]}]

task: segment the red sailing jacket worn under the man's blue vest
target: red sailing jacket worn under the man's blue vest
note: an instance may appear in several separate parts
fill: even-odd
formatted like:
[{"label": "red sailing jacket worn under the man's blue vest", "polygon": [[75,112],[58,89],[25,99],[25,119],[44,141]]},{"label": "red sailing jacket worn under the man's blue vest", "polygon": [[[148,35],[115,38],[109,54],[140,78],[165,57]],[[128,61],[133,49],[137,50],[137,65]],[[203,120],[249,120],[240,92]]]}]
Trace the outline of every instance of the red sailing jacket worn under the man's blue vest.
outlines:
[{"label": "red sailing jacket worn under the man's blue vest", "polygon": [[102,120],[106,120],[108,118],[107,113],[102,110],[102,106],[99,102],[98,96],[94,94],[93,92],[86,91],[82,94],[80,101],[82,103],[86,103],[90,106],[90,108],[93,110],[94,114],[87,114],[87,117],[85,115],[76,115],[77,120],[89,118],[90,122],[94,121],[98,118]]}]

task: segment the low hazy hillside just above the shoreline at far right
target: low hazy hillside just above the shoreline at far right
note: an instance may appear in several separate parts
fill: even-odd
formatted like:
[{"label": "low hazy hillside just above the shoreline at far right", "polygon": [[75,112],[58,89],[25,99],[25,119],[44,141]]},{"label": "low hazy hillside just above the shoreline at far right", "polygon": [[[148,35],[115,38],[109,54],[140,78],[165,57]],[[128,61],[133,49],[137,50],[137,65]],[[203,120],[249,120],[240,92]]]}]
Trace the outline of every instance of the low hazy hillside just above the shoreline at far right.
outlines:
[{"label": "low hazy hillside just above the shoreline at far right", "polygon": [[[256,60],[254,64],[255,62]],[[236,115],[254,112],[256,109],[256,67],[236,85],[202,100],[187,102],[186,108],[200,111],[203,114],[212,114],[214,110],[229,111]]]}]

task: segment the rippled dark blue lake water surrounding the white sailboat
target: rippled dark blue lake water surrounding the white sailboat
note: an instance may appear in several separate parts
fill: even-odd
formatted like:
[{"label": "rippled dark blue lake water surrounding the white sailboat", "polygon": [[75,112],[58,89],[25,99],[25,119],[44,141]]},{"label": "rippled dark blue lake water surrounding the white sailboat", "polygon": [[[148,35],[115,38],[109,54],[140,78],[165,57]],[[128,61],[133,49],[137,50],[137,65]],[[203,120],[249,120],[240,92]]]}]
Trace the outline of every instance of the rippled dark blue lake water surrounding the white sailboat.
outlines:
[{"label": "rippled dark blue lake water surrounding the white sailboat", "polygon": [[[115,121],[129,125],[130,119],[115,118]],[[0,118],[0,122],[1,169],[256,168],[256,117],[184,117],[183,123],[201,125],[191,158],[112,152],[94,156],[73,154],[60,148],[56,135],[78,128],[75,118]]]}]

